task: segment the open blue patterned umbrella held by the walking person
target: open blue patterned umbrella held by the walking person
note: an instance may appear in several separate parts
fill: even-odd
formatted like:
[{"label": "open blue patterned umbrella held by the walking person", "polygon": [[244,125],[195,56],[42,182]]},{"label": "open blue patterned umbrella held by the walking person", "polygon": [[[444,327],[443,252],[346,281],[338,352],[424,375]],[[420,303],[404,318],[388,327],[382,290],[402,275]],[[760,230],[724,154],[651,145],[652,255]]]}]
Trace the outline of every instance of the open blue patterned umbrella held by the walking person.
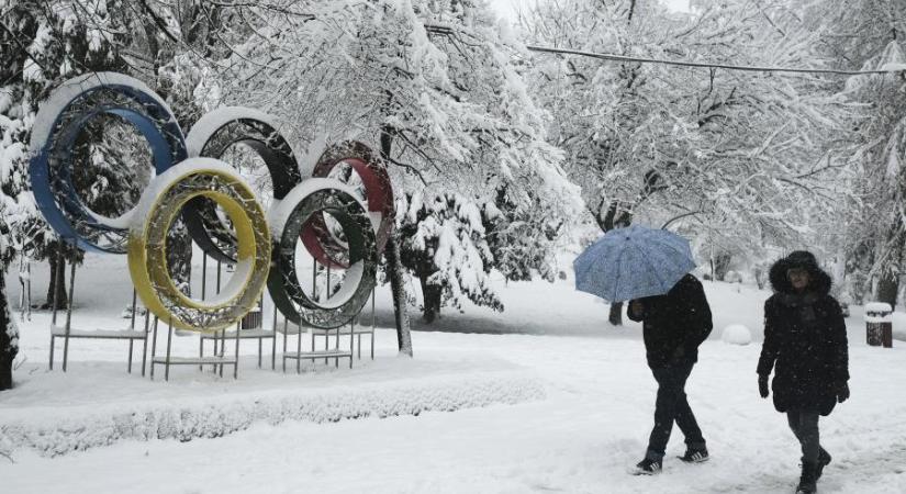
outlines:
[{"label": "open blue patterned umbrella held by the walking person", "polygon": [[695,268],[689,240],[665,229],[607,232],[572,262],[575,289],[611,302],[662,295]]}]

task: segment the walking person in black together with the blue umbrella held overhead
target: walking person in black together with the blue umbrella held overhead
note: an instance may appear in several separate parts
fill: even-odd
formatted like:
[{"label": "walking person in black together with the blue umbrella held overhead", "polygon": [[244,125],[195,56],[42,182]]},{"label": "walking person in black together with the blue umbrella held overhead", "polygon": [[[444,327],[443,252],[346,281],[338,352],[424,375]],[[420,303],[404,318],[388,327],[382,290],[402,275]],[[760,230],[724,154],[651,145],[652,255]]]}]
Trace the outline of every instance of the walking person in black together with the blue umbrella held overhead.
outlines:
[{"label": "walking person in black together with the blue umbrella held overhead", "polygon": [[689,240],[635,225],[608,232],[573,262],[577,289],[611,302],[630,301],[629,318],[642,323],[658,395],[648,449],[630,470],[633,474],[661,471],[674,422],[685,435],[686,451],[680,459],[708,459],[684,390],[698,359],[698,346],[713,327],[702,283],[689,273],[694,267]]}]

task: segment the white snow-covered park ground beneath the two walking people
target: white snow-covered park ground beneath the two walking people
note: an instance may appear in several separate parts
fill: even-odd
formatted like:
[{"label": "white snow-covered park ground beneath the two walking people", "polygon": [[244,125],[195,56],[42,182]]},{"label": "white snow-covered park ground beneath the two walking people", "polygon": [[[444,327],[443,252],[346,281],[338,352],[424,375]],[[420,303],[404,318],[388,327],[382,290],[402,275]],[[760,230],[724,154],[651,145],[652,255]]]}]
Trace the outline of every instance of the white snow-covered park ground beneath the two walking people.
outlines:
[{"label": "white snow-covered park ground beneath the two walking people", "polygon": [[[46,273],[35,271],[37,291]],[[122,258],[89,256],[74,325],[124,326],[114,316],[128,287]],[[268,350],[267,369],[256,369],[256,345],[245,341],[237,381],[184,367],[152,382],[125,372],[126,344],[93,340],[71,344],[69,372],[48,372],[47,315],[36,313],[22,327],[18,388],[0,394],[0,448],[11,457],[0,457],[3,492],[794,490],[797,444],[756,383],[768,292],[705,282],[715,332],[687,392],[713,459],[672,458],[683,450],[674,430],[664,473],[636,478],[626,469],[645,451],[656,389],[639,326],[611,327],[607,305],[572,280],[500,287],[504,313],[445,312],[436,330],[413,334],[414,360],[395,355],[384,288],[374,361],[283,374],[269,370]],[[861,307],[848,322],[852,397],[821,419],[835,459],[819,490],[902,493],[906,344],[868,347]],[[754,343],[723,343],[731,324],[749,327]],[[198,339],[176,338],[175,348],[192,355]]]}]

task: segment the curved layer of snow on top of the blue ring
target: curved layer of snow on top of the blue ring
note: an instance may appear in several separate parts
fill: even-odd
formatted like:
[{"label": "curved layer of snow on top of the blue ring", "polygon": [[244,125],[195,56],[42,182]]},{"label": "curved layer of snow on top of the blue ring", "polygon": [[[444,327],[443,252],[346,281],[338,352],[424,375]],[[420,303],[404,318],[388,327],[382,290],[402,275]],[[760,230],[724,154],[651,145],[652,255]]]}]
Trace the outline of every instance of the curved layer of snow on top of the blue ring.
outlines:
[{"label": "curved layer of snow on top of the blue ring", "polygon": [[116,72],[83,74],[61,83],[57,89],[54,89],[46,101],[41,103],[37,115],[35,115],[34,125],[32,126],[32,138],[29,142],[29,147],[32,153],[37,153],[44,147],[47,138],[51,136],[51,131],[53,131],[57,117],[66,110],[66,106],[68,106],[72,100],[78,98],[82,92],[104,86],[125,86],[137,92],[145,93],[154,98],[161,108],[167,109],[167,113],[172,115],[167,103],[138,79]]}]

